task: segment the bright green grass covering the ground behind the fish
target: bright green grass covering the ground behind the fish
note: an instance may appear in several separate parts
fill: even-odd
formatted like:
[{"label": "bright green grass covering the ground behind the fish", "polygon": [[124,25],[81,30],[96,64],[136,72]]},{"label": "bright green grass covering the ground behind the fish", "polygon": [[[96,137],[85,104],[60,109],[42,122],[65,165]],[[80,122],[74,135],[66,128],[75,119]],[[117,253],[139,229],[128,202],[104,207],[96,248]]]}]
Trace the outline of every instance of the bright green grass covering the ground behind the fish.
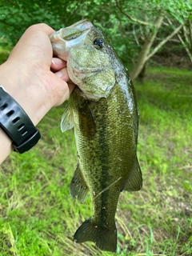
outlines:
[{"label": "bright green grass covering the ground behind the fish", "polygon": [[[139,192],[123,192],[116,214],[121,256],[192,255],[192,74],[153,69],[135,82],[140,109]],[[114,255],[76,244],[75,230],[91,216],[90,198],[69,194],[76,165],[73,131],[60,132],[64,107],[38,125],[42,139],[0,167],[0,255]]]}]

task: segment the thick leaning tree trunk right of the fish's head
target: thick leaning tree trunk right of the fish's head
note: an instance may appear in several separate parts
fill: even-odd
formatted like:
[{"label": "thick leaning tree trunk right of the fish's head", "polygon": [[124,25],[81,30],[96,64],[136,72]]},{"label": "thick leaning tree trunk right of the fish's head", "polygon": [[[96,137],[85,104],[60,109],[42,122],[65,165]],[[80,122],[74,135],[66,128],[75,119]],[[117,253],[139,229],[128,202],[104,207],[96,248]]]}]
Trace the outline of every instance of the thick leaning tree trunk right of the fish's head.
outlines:
[{"label": "thick leaning tree trunk right of the fish's head", "polygon": [[138,55],[138,61],[134,66],[134,69],[130,72],[130,78],[132,80],[138,78],[138,74],[142,71],[142,68],[146,63],[146,57],[150,53],[150,47],[152,46],[154,38],[156,37],[156,34],[158,33],[160,26],[162,25],[162,20],[162,16],[158,16],[158,18],[156,18],[154,22],[155,29],[153,31],[150,31],[150,33],[146,37],[144,45],[142,46],[142,50]]}]

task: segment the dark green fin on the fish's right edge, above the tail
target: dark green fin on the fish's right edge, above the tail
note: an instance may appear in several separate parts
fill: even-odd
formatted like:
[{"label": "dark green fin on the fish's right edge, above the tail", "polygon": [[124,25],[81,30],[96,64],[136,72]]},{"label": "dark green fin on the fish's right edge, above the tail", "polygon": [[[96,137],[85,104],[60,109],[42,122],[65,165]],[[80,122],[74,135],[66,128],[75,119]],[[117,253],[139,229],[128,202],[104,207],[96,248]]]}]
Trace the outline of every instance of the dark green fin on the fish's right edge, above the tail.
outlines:
[{"label": "dark green fin on the fish's right edge, above the tail", "polygon": [[138,191],[142,188],[142,171],[140,169],[138,158],[135,158],[134,168],[130,173],[130,177],[126,182],[126,186],[123,190],[126,191]]}]

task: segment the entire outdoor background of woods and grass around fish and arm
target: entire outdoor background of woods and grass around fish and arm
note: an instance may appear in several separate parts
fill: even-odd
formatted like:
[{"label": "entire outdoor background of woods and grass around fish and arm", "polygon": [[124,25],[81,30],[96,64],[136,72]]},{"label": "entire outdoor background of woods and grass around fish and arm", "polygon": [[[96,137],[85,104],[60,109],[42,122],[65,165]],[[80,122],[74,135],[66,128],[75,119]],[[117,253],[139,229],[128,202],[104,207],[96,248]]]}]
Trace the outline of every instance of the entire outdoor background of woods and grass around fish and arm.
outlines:
[{"label": "entire outdoor background of woods and grass around fish and arm", "polygon": [[[100,28],[130,70],[138,98],[143,189],[121,194],[116,222],[121,256],[192,255],[192,3],[190,0],[0,1],[0,63],[26,28],[59,30],[82,18]],[[39,123],[42,139],[0,166],[0,255],[112,255],[75,244],[90,198],[70,197],[73,130],[62,134],[67,102]]]}]

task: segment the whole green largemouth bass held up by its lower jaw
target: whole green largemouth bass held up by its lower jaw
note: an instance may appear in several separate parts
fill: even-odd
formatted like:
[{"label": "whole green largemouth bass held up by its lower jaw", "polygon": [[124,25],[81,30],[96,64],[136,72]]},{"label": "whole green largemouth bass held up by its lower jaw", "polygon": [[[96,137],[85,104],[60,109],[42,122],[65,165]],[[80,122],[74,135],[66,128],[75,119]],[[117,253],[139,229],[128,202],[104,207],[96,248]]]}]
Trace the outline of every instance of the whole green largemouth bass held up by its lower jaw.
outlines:
[{"label": "whole green largemouth bass held up by its lower jaw", "polygon": [[62,132],[74,128],[77,148],[70,194],[85,202],[90,193],[93,204],[92,217],[78,227],[74,241],[115,252],[119,195],[142,188],[134,86],[110,40],[89,20],[54,32],[50,42],[76,85],[61,122]]}]

